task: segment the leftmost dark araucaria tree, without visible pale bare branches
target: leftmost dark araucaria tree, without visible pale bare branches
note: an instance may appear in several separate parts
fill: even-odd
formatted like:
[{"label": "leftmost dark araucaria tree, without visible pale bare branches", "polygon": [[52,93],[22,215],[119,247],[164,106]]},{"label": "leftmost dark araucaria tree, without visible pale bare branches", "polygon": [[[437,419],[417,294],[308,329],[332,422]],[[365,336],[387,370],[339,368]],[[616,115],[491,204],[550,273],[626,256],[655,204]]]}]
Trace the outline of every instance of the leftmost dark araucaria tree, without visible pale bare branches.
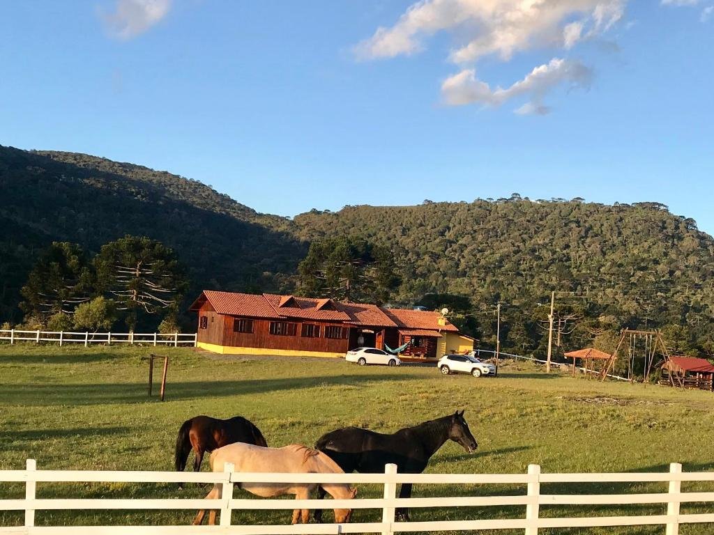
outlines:
[{"label": "leftmost dark araucaria tree, without visible pale bare branches", "polygon": [[93,275],[84,250],[76,243],[53,242],[29,274],[20,307],[41,322],[54,315],[71,315],[91,298]]}]

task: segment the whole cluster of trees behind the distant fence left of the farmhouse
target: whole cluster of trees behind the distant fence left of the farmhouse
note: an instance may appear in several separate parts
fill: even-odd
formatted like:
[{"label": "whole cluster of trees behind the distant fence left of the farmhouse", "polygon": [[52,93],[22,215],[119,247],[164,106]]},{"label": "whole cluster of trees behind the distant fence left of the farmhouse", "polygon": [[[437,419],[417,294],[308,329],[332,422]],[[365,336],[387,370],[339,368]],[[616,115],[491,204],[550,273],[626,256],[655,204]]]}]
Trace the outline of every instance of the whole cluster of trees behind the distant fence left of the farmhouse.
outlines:
[{"label": "whole cluster of trees behind the distant fence left of the farmhouse", "polygon": [[76,243],[54,242],[30,271],[19,306],[31,329],[96,332],[120,322],[135,331],[160,320],[160,332],[174,332],[187,287],[176,254],[159,241],[128,235],[93,258]]}]

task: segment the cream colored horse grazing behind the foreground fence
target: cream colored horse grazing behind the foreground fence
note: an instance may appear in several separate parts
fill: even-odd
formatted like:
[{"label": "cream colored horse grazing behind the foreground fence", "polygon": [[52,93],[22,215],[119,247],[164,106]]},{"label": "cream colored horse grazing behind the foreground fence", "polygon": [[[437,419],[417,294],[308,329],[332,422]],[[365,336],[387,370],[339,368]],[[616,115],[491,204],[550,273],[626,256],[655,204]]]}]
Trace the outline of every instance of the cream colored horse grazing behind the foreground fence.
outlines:
[{"label": "cream colored horse grazing behind the foreground fence", "polygon": [[[214,449],[211,453],[211,470],[223,472],[223,464],[233,463],[233,472],[275,472],[291,474],[343,474],[336,462],[323,452],[310,449],[299,444],[291,444],[282,448],[265,448],[236,442],[222,448]],[[317,483],[240,483],[241,489],[263,498],[294,494],[296,499],[308,499]],[[357,494],[357,489],[342,483],[320,484],[328,494],[335,499],[352,499]],[[206,499],[221,499],[221,484],[213,485]],[[348,522],[352,509],[335,509],[335,521],[338,524]],[[193,524],[198,525],[206,516],[202,509],[193,519]],[[310,519],[308,509],[295,509],[293,511],[293,524],[302,521],[307,524]],[[216,510],[211,509],[208,514],[208,524],[216,524]]]}]

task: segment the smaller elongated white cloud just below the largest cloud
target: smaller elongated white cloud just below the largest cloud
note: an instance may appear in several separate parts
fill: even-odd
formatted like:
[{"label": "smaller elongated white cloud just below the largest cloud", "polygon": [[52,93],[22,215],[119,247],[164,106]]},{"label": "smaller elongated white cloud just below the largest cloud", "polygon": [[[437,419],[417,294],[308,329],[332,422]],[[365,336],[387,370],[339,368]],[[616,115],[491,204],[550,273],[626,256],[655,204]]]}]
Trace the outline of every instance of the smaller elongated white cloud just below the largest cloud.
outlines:
[{"label": "smaller elongated white cloud just below the largest cloud", "polygon": [[553,58],[550,62],[535,67],[533,71],[508,88],[491,88],[476,77],[475,69],[464,69],[441,84],[444,101],[450,106],[481,104],[501,106],[512,98],[526,96],[528,103],[516,109],[521,115],[545,115],[550,108],[543,104],[543,97],[561,83],[573,88],[589,88],[592,71],[580,61]]}]

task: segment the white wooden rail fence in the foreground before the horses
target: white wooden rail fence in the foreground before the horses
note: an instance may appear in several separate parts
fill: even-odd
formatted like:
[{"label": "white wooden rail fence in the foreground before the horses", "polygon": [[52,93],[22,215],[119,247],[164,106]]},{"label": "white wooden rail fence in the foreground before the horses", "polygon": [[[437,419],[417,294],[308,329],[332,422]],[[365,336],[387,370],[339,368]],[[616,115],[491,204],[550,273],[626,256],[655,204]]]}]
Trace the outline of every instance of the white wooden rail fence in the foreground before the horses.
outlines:
[{"label": "white wooden rail fence in the foreground before the horses", "polygon": [[[682,472],[681,464],[671,464],[665,473],[625,473],[625,474],[545,474],[540,467],[531,464],[528,474],[397,474],[396,466],[388,464],[384,474],[246,474],[231,472],[232,465],[226,464],[226,472],[81,472],[59,470],[37,470],[33,459],[28,459],[25,470],[0,471],[0,481],[23,481],[24,499],[0,500],[0,510],[24,511],[24,526],[0,526],[0,534],[343,534],[379,533],[391,535],[413,531],[478,531],[483,529],[517,529],[526,535],[538,535],[539,529],[593,526],[644,526],[660,525],[666,535],[678,535],[680,524],[714,523],[714,514],[680,514],[680,504],[700,502],[710,505],[714,502],[714,492],[682,492],[682,481],[714,481],[714,472]],[[206,499],[37,499],[38,484],[46,481],[100,481],[100,482],[141,482],[171,483],[200,482],[223,486],[223,496],[218,500]],[[233,484],[238,482],[311,482],[379,484],[383,486],[383,498],[352,500],[285,500],[285,499],[243,499],[233,497]],[[518,484],[526,487],[526,494],[515,496],[445,496],[430,498],[396,498],[398,483],[416,484]],[[665,492],[656,494],[542,494],[542,483],[666,483]],[[582,488],[582,487],[581,487]],[[664,490],[664,486],[663,486]],[[613,504],[666,504],[665,514],[640,516],[540,516],[541,506],[553,505],[613,505]],[[478,506],[523,506],[525,514],[513,519],[478,519],[449,521],[396,521],[396,507],[413,508],[458,508]],[[352,524],[305,524],[305,525],[231,525],[231,511],[285,509],[381,509],[379,522]],[[136,510],[136,509],[218,509],[219,526],[35,526],[35,512],[38,510]],[[664,509],[664,508],[663,508]],[[455,514],[458,514],[455,513]],[[354,518],[354,515],[353,515]],[[276,521],[287,521],[288,514],[278,514]],[[714,528],[713,528],[714,529]]]}]

